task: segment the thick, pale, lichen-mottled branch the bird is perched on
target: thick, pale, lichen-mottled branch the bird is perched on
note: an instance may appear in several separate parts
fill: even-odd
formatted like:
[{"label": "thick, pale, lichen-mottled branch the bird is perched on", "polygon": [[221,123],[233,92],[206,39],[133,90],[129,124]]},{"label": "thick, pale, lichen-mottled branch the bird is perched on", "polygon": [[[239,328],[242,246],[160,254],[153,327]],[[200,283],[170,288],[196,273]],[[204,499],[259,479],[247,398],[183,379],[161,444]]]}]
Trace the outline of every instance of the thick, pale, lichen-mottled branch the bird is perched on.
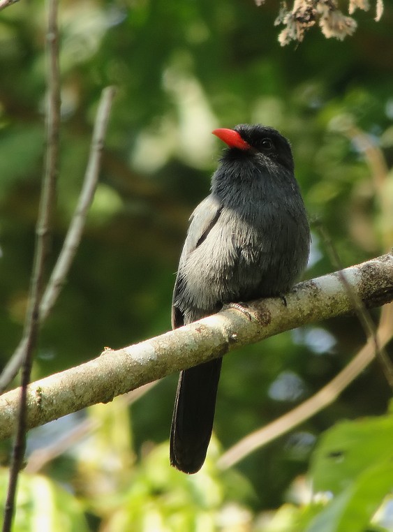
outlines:
[{"label": "thick, pale, lichen-mottled branch the bird is perched on", "polygon": [[[368,308],[393,300],[393,256],[387,254],[343,270]],[[294,327],[353,312],[354,305],[338,272],[299,283],[286,296],[252,302],[251,320],[230,307],[177,330],[119,350],[31,383],[27,425],[36,427],[143,384],[220,357]],[[13,433],[18,390],[0,397],[0,438]]]}]

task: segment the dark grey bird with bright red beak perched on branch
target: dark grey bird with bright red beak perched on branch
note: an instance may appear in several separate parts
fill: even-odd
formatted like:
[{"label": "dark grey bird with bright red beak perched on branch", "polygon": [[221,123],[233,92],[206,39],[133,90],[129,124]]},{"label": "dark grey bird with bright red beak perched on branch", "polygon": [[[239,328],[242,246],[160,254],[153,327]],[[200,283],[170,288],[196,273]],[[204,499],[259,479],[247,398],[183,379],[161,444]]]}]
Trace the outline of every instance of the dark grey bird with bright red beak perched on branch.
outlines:
[{"label": "dark grey bird with bright red beak perched on branch", "polygon": [[[227,147],[190,217],[172,297],[172,329],[228,304],[283,296],[306,268],[309,221],[290,142],[262,124],[212,132]],[[170,464],[196,473],[212,436],[222,357],[181,371]]]}]

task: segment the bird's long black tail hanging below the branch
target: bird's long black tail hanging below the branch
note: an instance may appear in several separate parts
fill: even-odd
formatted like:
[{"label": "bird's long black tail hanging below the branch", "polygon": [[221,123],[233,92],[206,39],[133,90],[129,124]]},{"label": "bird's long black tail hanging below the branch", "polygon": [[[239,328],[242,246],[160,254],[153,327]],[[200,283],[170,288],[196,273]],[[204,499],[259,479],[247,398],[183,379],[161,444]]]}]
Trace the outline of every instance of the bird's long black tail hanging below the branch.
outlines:
[{"label": "bird's long black tail hanging below the branch", "polygon": [[170,464],[196,473],[212,436],[222,358],[181,371],[170,430]]}]

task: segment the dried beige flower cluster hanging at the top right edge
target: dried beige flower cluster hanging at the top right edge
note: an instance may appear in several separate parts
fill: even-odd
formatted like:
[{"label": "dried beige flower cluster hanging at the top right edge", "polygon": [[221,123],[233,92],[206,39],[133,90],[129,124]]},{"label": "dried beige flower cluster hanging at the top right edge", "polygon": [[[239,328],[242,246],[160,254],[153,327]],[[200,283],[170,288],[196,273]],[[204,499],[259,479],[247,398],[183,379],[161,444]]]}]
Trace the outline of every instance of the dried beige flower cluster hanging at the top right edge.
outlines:
[{"label": "dried beige flower cluster hanging at the top right edge", "polygon": [[[255,0],[258,6],[265,0]],[[349,0],[348,13],[353,15],[355,10],[369,10],[369,0]],[[383,13],[383,0],[376,0],[376,21],[380,20]],[[295,0],[292,10],[289,10],[284,1],[279,16],[274,24],[284,24],[286,27],[279,35],[281,46],[287,45],[291,40],[301,42],[304,32],[318,24],[325,37],[335,37],[343,40],[347,35],[352,35],[357,24],[353,17],[343,15],[337,6],[336,0]]]}]

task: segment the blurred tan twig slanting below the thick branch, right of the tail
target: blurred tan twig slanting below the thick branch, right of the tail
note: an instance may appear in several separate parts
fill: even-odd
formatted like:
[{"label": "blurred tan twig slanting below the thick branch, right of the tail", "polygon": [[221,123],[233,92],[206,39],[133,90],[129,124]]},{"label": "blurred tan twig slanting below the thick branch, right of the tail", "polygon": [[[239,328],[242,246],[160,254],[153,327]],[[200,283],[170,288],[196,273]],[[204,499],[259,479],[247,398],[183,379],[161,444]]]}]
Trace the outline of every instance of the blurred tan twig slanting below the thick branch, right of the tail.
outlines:
[{"label": "blurred tan twig slanting below the thick branch, right of the tail", "polygon": [[[380,327],[378,327],[380,346],[386,346],[392,338],[393,306],[390,304],[383,307],[383,317],[381,318]],[[290,412],[282,415],[272,423],[265,425],[262,429],[258,429],[248,434],[245,438],[242,438],[242,440],[224,452],[218,460],[218,466],[226,469],[239,463],[239,461],[250,455],[251,452],[267,445],[267,443],[270,443],[276,438],[279,438],[279,436],[291,431],[297,425],[312,418],[313,415],[316,415],[323,408],[336,401],[343,390],[374,360],[374,357],[375,344],[372,339],[369,339],[353,360],[326,386],[322,387],[319,392],[306,399],[306,401],[293,408]]]}]

